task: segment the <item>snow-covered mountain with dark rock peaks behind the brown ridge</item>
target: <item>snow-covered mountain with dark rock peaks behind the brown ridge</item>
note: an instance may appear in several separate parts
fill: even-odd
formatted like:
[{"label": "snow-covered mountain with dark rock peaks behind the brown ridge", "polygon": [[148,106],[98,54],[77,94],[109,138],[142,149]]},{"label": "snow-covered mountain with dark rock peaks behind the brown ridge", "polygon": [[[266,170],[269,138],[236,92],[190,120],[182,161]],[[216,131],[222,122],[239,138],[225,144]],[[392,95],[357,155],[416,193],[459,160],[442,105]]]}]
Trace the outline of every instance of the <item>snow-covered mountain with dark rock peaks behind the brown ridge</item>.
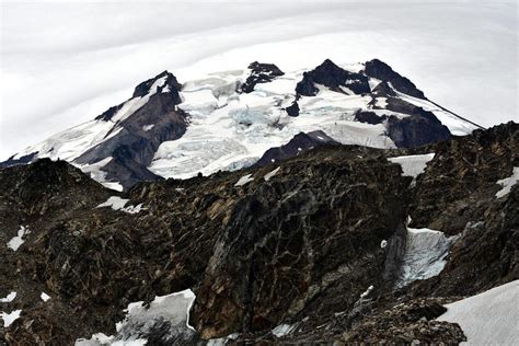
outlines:
[{"label": "snow-covered mountain with dark rock peaks behind the brown ridge", "polygon": [[[123,189],[139,181],[232,171],[332,142],[407,148],[477,127],[377,59],[341,67],[325,60],[297,71],[253,62],[183,84],[164,71],[137,85],[126,102],[1,165],[67,160]],[[302,147],[296,138],[301,132],[313,134]],[[278,147],[282,155],[264,157]]]}]

